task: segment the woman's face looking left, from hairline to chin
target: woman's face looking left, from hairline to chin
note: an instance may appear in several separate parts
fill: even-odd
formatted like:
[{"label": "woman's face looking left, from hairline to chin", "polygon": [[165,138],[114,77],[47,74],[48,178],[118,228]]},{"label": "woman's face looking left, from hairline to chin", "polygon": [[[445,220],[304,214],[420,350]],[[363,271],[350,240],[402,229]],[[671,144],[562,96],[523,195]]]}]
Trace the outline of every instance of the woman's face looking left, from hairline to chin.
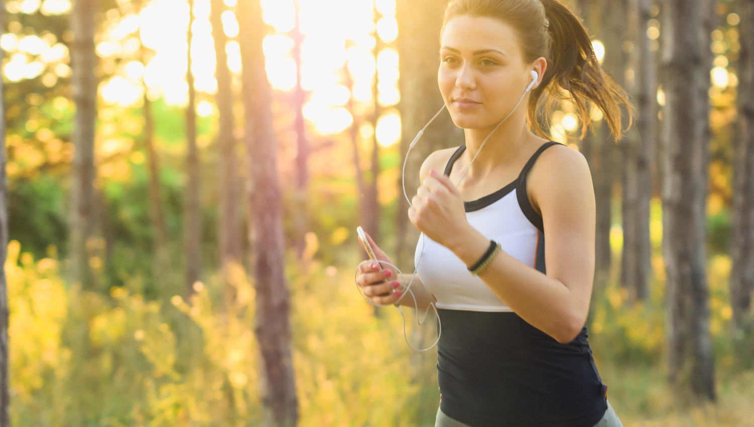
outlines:
[{"label": "woman's face looking left, from hairline to chin", "polygon": [[464,129],[498,124],[532,79],[516,31],[489,17],[451,18],[443,31],[440,93],[453,122]]}]

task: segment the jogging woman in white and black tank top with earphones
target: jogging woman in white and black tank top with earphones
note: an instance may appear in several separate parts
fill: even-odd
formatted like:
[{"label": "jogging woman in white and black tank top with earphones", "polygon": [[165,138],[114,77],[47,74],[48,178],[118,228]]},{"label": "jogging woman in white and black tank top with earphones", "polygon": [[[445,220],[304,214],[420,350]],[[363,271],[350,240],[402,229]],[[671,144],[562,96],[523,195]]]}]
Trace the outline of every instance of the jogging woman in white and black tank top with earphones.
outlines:
[{"label": "jogging woman in white and black tank top with earphones", "polygon": [[[411,289],[419,309],[436,304],[442,322],[436,426],[621,425],[585,327],[595,257],[590,170],[578,151],[541,137],[537,112],[572,99],[586,131],[589,101],[618,139],[624,91],[556,0],[450,2],[437,80],[465,144],[429,155],[408,212],[428,237],[417,245],[415,261],[422,251],[423,260]],[[516,109],[522,94],[528,108]],[[365,263],[357,284],[372,303],[413,303],[391,278],[392,269]]]}]

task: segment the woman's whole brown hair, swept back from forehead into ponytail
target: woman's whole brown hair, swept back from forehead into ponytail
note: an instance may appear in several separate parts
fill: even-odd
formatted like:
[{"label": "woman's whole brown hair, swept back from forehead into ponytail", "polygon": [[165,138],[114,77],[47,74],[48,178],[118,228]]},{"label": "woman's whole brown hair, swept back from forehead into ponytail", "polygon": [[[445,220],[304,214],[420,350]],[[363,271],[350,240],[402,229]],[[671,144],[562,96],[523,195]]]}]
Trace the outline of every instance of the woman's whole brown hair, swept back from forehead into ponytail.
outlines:
[{"label": "woman's whole brown hair, swept back from forehead into ponytail", "polygon": [[501,20],[518,33],[527,63],[538,57],[547,60],[541,84],[532,89],[526,109],[526,118],[539,136],[547,137],[538,121],[539,108],[544,104],[547,124],[556,100],[575,103],[581,137],[592,127],[587,100],[602,110],[615,140],[623,134],[621,104],[627,107],[630,127],[633,112],[626,91],[602,71],[587,29],[559,0],[451,0],[443,30],[450,19],[459,16]]}]

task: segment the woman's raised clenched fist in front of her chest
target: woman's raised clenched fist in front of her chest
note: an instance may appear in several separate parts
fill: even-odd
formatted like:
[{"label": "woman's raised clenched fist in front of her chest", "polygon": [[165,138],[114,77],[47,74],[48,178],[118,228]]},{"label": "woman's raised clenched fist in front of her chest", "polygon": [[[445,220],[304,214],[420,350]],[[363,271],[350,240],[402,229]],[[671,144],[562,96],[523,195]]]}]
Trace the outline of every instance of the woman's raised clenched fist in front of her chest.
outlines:
[{"label": "woman's raised clenched fist in front of her chest", "polygon": [[420,232],[445,247],[462,239],[469,227],[461,193],[449,177],[431,170],[412,198],[409,220]]}]

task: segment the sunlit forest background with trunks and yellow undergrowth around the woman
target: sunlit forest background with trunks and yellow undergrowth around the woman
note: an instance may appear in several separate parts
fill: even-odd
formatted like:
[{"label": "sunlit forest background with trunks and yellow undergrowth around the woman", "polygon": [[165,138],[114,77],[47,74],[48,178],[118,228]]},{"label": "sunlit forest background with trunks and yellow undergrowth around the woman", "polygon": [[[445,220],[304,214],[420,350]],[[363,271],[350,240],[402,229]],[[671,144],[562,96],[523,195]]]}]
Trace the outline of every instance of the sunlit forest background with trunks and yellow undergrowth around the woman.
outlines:
[{"label": "sunlit forest background with trunks and yellow undergrowth around the woman", "polygon": [[[636,108],[547,125],[593,174],[608,398],[754,425],[754,2],[567,3]],[[412,271],[445,0],[4,5],[0,425],[433,425],[436,351],[353,269],[362,225]]]}]

